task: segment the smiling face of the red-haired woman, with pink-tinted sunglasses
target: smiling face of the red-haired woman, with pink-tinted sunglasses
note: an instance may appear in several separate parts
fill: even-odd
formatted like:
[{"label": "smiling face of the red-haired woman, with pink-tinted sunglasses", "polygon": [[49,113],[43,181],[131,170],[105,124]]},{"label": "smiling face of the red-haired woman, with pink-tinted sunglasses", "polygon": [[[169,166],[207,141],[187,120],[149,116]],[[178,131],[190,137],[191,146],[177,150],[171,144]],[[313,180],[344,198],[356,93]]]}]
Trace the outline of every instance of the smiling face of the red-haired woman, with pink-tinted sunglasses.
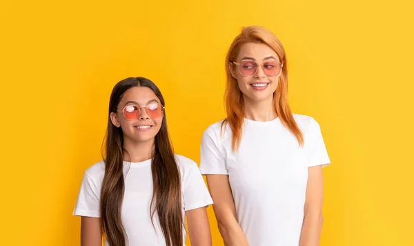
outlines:
[{"label": "smiling face of the red-haired woman, with pink-tinted sunglasses", "polygon": [[[266,44],[246,43],[240,47],[235,61],[239,65],[233,65],[230,72],[237,79],[245,100],[253,102],[272,100],[282,73],[274,76],[275,71],[282,70],[277,63],[280,62],[277,53]],[[256,69],[255,64],[257,64]]]}]

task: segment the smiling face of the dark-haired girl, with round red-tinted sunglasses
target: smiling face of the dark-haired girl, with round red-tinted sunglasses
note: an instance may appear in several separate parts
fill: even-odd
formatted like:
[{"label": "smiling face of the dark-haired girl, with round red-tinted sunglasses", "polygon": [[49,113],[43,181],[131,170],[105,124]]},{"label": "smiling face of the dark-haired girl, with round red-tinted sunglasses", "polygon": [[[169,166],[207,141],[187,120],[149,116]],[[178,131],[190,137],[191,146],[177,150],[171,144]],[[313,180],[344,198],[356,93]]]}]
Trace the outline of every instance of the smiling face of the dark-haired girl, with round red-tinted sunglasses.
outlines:
[{"label": "smiling face of the dark-haired girl, with round red-tinted sunglasses", "polygon": [[132,142],[152,142],[161,129],[163,117],[164,108],[159,98],[144,86],[129,88],[117,112],[110,113],[112,124],[121,127],[124,138]]}]

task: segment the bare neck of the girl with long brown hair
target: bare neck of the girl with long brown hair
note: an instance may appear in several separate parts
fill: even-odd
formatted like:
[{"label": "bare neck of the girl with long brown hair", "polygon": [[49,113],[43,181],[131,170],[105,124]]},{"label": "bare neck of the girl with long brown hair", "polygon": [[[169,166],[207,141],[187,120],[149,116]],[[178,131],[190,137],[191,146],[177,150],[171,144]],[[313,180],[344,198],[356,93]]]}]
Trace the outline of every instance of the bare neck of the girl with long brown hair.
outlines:
[{"label": "bare neck of the girl with long brown hair", "polygon": [[146,142],[135,142],[124,138],[124,160],[128,162],[144,162],[152,158],[154,139]]}]

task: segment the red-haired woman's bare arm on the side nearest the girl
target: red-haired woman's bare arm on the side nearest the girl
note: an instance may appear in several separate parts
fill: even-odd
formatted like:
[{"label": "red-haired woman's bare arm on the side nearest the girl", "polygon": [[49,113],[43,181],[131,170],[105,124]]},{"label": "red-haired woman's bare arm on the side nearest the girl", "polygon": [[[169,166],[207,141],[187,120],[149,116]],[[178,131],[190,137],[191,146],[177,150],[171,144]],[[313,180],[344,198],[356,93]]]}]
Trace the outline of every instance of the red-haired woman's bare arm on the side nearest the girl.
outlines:
[{"label": "red-haired woman's bare arm on the side nearest the girl", "polygon": [[206,175],[208,188],[213,198],[213,209],[221,237],[226,246],[247,246],[246,237],[237,223],[235,202],[227,175]]}]

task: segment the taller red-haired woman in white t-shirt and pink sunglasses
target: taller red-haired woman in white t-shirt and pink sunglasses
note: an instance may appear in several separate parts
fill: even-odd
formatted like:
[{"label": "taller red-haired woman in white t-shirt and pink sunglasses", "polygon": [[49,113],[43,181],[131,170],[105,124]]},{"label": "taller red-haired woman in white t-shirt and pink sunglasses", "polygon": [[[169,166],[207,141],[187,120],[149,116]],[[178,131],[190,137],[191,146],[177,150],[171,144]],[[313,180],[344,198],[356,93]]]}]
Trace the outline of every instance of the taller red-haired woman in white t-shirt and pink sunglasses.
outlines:
[{"label": "taller red-haired woman in white t-shirt and pink sunglasses", "polygon": [[317,122],[290,111],[282,44],[243,28],[226,72],[227,117],[204,131],[200,163],[225,244],[319,245],[330,160]]}]

